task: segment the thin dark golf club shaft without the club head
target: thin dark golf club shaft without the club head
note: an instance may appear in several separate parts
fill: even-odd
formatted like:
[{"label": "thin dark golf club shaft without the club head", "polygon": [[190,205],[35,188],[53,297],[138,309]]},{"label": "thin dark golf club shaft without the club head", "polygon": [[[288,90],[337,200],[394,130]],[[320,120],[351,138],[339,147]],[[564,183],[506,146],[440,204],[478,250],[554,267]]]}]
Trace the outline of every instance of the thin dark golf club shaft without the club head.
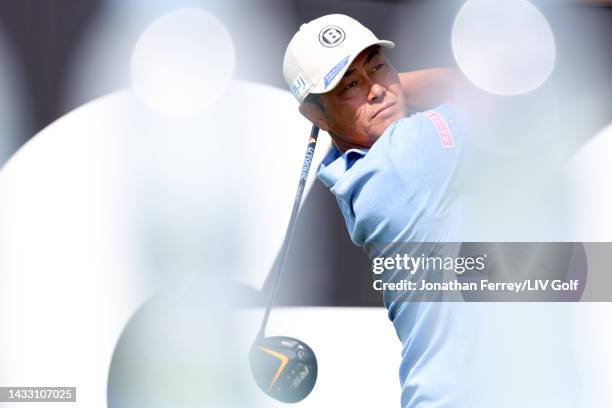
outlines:
[{"label": "thin dark golf club shaft without the club head", "polygon": [[272,283],[272,293],[270,295],[270,301],[266,306],[266,312],[264,313],[263,320],[261,322],[261,327],[259,329],[258,337],[263,337],[265,335],[266,325],[268,324],[268,319],[270,317],[270,311],[272,310],[272,306],[274,305],[274,300],[276,299],[276,293],[278,292],[278,288],[280,286],[280,278],[283,270],[285,269],[285,261],[287,259],[287,252],[289,251],[289,246],[291,245],[291,239],[293,237],[293,230],[295,229],[295,224],[297,221],[297,214],[300,209],[300,203],[302,202],[302,195],[304,194],[304,188],[306,187],[306,179],[308,178],[308,173],[310,171],[310,164],[312,163],[312,157],[314,155],[315,146],[317,144],[317,137],[319,136],[319,128],[315,125],[312,126],[312,130],[310,131],[310,138],[308,139],[308,147],[306,148],[306,155],[304,156],[304,164],[302,165],[302,172],[300,174],[300,182],[298,183],[298,189],[295,193],[295,201],[293,202],[293,209],[291,210],[291,218],[289,218],[289,225],[287,225],[287,232],[285,233],[285,239],[283,241],[283,246],[281,248],[280,257],[277,262],[277,270],[274,275],[274,282]]}]

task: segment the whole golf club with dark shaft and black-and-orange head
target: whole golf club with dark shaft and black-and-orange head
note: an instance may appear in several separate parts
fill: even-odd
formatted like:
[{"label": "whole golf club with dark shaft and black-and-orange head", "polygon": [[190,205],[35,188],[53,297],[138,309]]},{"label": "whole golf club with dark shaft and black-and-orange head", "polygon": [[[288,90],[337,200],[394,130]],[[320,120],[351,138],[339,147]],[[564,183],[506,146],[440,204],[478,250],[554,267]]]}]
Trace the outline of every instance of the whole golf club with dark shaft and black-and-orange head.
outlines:
[{"label": "whole golf club with dark shaft and black-and-orange head", "polygon": [[255,382],[263,392],[282,402],[298,402],[310,394],[317,381],[317,358],[314,351],[304,342],[285,336],[266,337],[265,330],[270,317],[270,311],[280,286],[280,278],[285,267],[287,252],[297,214],[302,202],[306,179],[317,144],[319,129],[312,126],[304,164],[300,174],[291,218],[285,233],[285,239],[277,262],[276,273],[272,283],[270,300],[266,306],[261,327],[255,342],[251,346],[250,363]]}]

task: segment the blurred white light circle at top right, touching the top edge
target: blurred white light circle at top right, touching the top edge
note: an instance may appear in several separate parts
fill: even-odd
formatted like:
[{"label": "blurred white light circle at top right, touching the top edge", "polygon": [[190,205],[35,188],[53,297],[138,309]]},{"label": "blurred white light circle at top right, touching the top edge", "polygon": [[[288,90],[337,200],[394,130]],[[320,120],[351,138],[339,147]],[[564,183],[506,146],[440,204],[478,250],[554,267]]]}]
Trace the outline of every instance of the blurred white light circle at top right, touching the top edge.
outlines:
[{"label": "blurred white light circle at top right, touching the top edge", "polygon": [[468,0],[455,18],[452,47],[465,76],[495,95],[530,92],[555,65],[550,25],[527,0]]}]

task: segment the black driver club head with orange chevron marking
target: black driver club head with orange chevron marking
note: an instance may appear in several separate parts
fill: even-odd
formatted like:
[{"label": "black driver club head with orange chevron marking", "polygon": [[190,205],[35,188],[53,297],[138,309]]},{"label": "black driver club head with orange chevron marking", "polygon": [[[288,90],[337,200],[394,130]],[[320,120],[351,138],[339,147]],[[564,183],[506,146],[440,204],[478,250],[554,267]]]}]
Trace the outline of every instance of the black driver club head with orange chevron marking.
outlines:
[{"label": "black driver club head with orange chevron marking", "polygon": [[299,402],[317,381],[317,358],[291,337],[260,337],[250,352],[251,372],[263,392],[282,402]]}]

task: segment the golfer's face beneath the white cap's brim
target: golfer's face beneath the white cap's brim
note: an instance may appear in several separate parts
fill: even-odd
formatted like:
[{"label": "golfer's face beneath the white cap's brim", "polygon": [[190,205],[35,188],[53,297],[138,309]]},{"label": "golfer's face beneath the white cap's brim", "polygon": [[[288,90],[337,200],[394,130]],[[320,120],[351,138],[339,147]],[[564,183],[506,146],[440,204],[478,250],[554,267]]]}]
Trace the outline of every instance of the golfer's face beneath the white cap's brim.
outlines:
[{"label": "golfer's face beneath the white cap's brim", "polygon": [[361,52],[340,83],[320,95],[320,101],[323,111],[318,125],[332,134],[343,151],[369,148],[407,111],[397,71],[378,46]]}]

